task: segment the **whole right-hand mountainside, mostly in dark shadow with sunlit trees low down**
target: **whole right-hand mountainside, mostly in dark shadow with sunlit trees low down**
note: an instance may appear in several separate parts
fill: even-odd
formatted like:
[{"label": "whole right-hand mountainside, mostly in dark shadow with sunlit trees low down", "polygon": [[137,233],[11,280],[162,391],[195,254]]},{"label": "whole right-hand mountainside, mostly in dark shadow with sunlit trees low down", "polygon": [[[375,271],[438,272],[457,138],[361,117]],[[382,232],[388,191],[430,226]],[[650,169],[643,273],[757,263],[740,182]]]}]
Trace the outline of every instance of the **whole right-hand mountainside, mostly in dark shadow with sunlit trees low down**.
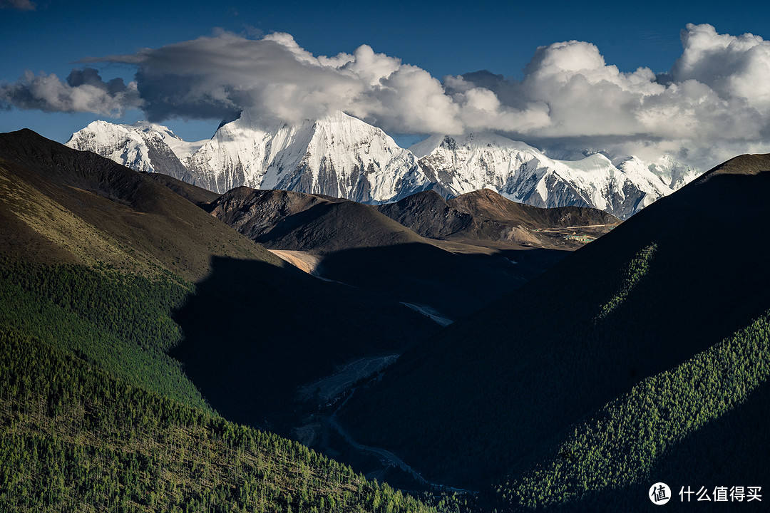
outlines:
[{"label": "whole right-hand mountainside, mostly in dark shadow with sunlit trees low down", "polygon": [[[508,483],[508,507],[618,497],[675,465],[677,448],[735,425],[767,380],[770,156],[728,168],[411,349],[343,422],[434,480]],[[764,447],[767,433],[743,435]],[[711,453],[718,439],[701,438]],[[761,461],[742,463],[767,480]]]}]

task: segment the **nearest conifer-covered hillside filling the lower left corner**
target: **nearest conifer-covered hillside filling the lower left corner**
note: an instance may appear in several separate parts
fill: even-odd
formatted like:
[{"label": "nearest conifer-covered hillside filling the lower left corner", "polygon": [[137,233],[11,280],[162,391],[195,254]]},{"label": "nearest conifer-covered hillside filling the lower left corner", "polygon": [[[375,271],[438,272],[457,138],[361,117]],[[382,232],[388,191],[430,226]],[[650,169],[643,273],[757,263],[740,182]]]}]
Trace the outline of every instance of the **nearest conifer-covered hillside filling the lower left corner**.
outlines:
[{"label": "nearest conifer-covered hillside filling the lower left corner", "polygon": [[0,328],[2,511],[430,511],[293,441]]}]

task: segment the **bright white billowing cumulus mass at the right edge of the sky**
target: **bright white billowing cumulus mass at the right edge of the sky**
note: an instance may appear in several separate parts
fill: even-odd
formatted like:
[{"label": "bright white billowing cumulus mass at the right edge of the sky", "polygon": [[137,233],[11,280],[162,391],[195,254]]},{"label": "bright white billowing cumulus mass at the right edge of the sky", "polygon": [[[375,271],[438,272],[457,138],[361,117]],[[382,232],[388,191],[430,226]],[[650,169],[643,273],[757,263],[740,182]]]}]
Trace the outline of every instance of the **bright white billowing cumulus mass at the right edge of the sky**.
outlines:
[{"label": "bright white billowing cumulus mass at the right edge of the sky", "polygon": [[476,73],[444,82],[456,94],[487,89],[514,108],[546,105],[545,124],[495,127],[544,146],[668,152],[700,167],[770,150],[770,42],[711,25],[688,25],[681,42],[681,58],[661,75],[620,72],[595,45],[569,41],[537,48],[521,81]]}]

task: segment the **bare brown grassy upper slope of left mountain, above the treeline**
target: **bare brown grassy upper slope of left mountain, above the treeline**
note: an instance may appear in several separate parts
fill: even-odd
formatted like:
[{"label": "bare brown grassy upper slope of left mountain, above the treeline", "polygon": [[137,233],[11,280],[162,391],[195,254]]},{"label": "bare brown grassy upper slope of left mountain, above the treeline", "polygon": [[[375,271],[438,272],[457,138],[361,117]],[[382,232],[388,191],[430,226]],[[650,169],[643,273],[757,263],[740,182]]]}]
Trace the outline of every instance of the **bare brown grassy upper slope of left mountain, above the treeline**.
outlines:
[{"label": "bare brown grassy upper slope of left mountain, above the treeline", "polygon": [[0,177],[0,235],[18,242],[0,252],[12,257],[166,269],[186,281],[206,276],[212,255],[283,266],[149,175],[28,130],[0,135]]}]

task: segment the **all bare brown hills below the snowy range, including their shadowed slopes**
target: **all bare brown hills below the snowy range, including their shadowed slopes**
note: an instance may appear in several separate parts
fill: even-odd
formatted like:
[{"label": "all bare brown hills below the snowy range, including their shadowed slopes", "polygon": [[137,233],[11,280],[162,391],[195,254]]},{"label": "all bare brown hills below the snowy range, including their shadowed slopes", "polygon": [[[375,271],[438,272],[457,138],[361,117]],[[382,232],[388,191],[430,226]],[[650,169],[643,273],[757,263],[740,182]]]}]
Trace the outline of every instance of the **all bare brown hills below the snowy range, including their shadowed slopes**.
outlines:
[{"label": "all bare brown hills below the snowy range, including their shadowed slopes", "polygon": [[[204,208],[260,245],[304,263],[313,275],[423,308],[447,321],[520,287],[567,255],[554,249],[574,249],[590,240],[571,239],[574,230],[596,237],[619,223],[593,208],[531,207],[488,189],[450,203],[451,208],[432,191],[374,207],[242,186]],[[427,225],[440,229],[424,230]]]}]

